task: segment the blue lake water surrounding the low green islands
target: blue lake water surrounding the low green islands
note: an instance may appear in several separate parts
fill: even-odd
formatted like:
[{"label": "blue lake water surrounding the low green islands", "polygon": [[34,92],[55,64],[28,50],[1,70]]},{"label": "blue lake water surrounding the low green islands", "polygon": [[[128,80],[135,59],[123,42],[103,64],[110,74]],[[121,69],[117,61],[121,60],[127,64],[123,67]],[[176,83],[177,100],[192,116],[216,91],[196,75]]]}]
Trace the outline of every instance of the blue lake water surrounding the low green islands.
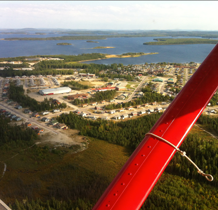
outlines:
[{"label": "blue lake water surrounding the low green islands", "polygon": [[[63,36],[64,34],[61,34]],[[51,37],[58,34],[48,35],[5,35],[0,34],[1,38],[6,37]],[[158,52],[155,55],[146,55],[136,58],[111,58],[86,63],[112,64],[144,64],[157,62],[203,62],[206,56],[214,48],[214,44],[193,44],[193,45],[143,45],[144,42],[153,41],[160,37],[137,37],[137,38],[108,38],[97,40],[99,43],[89,43],[86,40],[51,40],[51,41],[4,41],[0,40],[0,57],[18,57],[34,55],[78,55],[83,53],[106,53],[122,54],[127,52]],[[56,45],[60,42],[68,42],[72,45]],[[96,46],[112,46],[110,49],[90,49]]]}]

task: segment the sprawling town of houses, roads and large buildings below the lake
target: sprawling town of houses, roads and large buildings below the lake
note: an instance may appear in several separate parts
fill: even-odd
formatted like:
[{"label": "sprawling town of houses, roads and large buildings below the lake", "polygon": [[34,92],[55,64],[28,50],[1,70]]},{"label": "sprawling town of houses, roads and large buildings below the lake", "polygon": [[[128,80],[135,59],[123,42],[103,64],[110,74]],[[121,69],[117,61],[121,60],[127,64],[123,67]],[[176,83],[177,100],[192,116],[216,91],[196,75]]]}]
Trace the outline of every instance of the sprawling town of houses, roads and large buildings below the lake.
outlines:
[{"label": "sprawling town of houses, roads and large buildings below the lake", "polygon": [[[32,63],[28,60],[29,68],[23,70],[31,71],[34,64],[45,60],[37,59]],[[48,58],[46,60],[61,60]],[[7,64],[22,64],[21,61],[1,62],[4,67],[1,70],[9,69]],[[186,64],[143,64],[117,67],[116,70],[101,70],[99,74],[130,75],[132,80],[125,78],[107,78],[104,81],[93,73],[82,73],[83,69],[74,69],[72,75],[30,75],[1,78],[1,115],[5,115],[13,121],[22,122],[31,127],[38,135],[43,132],[58,132],[59,129],[68,129],[67,125],[58,123],[56,117],[61,114],[73,112],[83,118],[90,120],[128,120],[155,112],[164,112],[180,89],[190,79],[192,74],[199,67],[199,63]],[[21,70],[21,68],[13,69]],[[70,84],[80,84],[78,89],[71,89]],[[17,101],[9,98],[10,84],[22,87],[25,95],[42,102],[49,99],[53,109],[37,112],[28,107],[22,107]],[[86,86],[84,85],[86,84]],[[84,88],[84,89],[83,89]],[[164,100],[147,101],[141,100],[146,88],[150,93],[157,93],[158,97],[163,96]],[[113,98],[95,99],[99,93],[114,92]],[[138,103],[136,103],[138,102]],[[55,105],[64,104],[64,108],[54,108]],[[214,109],[208,109],[209,113],[216,113]]]}]

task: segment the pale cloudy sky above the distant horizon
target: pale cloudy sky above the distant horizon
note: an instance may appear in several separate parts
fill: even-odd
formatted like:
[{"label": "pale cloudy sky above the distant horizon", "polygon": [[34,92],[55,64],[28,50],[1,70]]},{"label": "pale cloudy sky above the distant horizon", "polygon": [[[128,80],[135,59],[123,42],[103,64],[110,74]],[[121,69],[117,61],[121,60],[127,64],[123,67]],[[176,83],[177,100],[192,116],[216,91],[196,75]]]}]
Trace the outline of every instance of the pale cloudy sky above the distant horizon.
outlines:
[{"label": "pale cloudy sky above the distant horizon", "polygon": [[218,30],[218,1],[0,1],[0,29]]}]

